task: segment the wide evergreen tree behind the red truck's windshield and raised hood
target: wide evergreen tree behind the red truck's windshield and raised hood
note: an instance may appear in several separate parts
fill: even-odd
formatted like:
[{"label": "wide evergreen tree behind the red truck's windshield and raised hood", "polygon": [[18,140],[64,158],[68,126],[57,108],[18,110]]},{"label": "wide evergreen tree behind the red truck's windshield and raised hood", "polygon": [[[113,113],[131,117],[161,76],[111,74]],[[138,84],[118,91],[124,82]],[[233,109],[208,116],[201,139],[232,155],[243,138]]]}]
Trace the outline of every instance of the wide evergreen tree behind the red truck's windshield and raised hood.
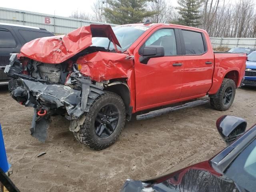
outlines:
[{"label": "wide evergreen tree behind the red truck's windshield and raised hood", "polygon": [[107,0],[105,17],[114,24],[130,24],[144,22],[144,18],[155,14],[147,10],[147,2],[151,0]]}]

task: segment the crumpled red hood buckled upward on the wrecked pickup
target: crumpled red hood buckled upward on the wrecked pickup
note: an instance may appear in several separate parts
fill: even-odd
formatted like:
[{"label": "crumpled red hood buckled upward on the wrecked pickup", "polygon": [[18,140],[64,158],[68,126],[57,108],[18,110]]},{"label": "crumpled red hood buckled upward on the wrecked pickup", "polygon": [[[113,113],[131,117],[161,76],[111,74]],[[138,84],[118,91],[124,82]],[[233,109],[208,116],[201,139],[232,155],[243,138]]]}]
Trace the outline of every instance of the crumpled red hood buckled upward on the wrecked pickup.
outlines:
[{"label": "crumpled red hood buckled upward on the wrecked pickup", "polygon": [[[82,26],[66,35],[42,37],[22,46],[20,52],[33,60],[58,64],[92,44],[92,37],[106,37],[120,46],[110,25]],[[121,47],[121,46],[120,46]]]}]

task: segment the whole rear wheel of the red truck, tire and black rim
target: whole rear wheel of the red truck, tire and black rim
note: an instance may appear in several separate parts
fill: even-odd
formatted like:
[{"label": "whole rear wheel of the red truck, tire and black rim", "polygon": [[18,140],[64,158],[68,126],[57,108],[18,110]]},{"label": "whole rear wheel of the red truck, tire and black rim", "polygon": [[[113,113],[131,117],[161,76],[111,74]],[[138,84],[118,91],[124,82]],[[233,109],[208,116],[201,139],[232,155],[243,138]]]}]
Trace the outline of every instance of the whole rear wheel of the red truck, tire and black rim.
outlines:
[{"label": "whole rear wheel of the red truck, tire and black rim", "polygon": [[232,79],[224,78],[217,98],[210,98],[211,106],[220,111],[226,111],[232,105],[236,94],[236,84]]}]

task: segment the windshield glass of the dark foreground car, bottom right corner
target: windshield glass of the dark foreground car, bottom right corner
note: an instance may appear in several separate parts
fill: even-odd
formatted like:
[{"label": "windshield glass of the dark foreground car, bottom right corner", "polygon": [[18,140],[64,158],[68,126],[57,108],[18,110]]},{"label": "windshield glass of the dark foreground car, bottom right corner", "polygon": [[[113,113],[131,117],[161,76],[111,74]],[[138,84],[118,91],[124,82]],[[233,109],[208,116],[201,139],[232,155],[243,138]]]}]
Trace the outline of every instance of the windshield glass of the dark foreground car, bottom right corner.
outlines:
[{"label": "windshield glass of the dark foreground car, bottom right corner", "polygon": [[232,162],[225,172],[242,188],[248,191],[256,189],[256,140],[251,142]]}]

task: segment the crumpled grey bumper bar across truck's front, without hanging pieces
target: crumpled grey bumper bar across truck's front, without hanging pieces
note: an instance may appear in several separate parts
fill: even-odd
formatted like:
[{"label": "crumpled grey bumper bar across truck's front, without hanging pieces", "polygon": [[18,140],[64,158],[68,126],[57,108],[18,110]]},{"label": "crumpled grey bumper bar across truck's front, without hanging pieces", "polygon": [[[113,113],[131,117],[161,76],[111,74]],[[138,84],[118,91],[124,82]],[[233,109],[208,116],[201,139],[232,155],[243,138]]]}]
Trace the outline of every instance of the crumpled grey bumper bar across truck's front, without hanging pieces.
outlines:
[{"label": "crumpled grey bumper bar across truck's front, without hanging pieces", "polygon": [[12,98],[25,106],[42,106],[49,111],[52,108],[66,107],[73,118],[82,114],[80,108],[81,91],[64,85],[48,85],[30,80],[10,80],[9,91]]}]

